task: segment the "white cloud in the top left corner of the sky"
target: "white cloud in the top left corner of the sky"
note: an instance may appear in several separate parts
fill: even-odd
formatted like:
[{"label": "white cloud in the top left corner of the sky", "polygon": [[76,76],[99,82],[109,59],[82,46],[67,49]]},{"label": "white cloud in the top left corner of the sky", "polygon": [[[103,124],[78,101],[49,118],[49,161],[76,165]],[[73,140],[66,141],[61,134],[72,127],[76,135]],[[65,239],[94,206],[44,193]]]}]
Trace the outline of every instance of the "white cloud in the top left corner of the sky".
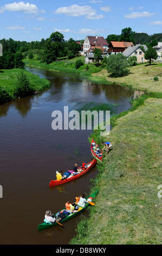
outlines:
[{"label": "white cloud in the top left corner of the sky", "polygon": [[39,12],[35,4],[25,4],[24,2],[5,4],[1,6],[0,13],[4,13],[4,11],[21,11],[26,14],[38,14]]}]

